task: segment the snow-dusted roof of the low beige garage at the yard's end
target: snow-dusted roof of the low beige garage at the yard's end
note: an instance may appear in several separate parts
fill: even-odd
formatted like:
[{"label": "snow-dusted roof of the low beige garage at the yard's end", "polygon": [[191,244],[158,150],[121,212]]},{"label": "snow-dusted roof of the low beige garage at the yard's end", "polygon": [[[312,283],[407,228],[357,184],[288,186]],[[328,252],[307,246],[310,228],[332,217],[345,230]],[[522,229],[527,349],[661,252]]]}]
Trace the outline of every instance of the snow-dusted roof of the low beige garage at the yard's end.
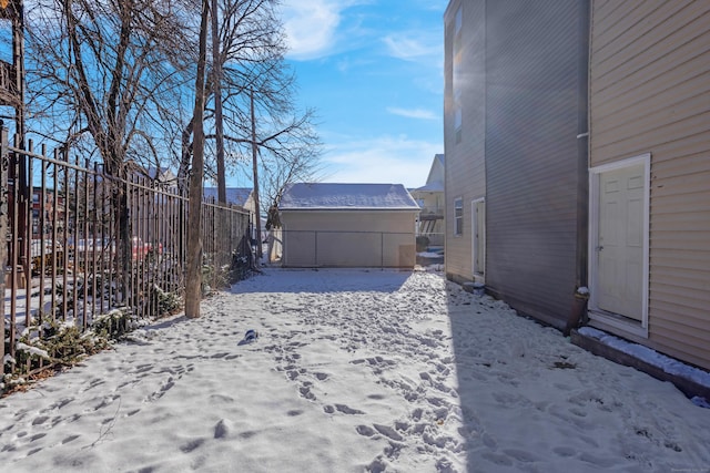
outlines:
[{"label": "snow-dusted roof of the low beige garage at the yard's end", "polygon": [[296,183],[284,191],[281,210],[386,209],[418,210],[402,184]]}]

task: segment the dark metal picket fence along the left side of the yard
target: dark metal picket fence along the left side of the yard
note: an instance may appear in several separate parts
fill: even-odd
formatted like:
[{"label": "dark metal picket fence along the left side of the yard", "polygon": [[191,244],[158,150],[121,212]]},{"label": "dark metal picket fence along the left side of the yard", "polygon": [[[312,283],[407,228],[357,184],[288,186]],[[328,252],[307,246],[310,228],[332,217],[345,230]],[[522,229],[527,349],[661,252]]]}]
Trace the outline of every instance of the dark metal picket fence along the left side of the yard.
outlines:
[{"label": "dark metal picket fence along the left side of the yard", "polygon": [[[138,166],[111,176],[61,150],[34,153],[31,143],[22,151],[8,145],[6,131],[0,157],[3,373],[51,364],[55,353],[38,347],[59,328],[113,323],[108,329],[121,331],[178,308],[189,200],[174,183]],[[203,284],[224,286],[230,271],[244,276],[250,214],[203,202],[201,220]]]}]

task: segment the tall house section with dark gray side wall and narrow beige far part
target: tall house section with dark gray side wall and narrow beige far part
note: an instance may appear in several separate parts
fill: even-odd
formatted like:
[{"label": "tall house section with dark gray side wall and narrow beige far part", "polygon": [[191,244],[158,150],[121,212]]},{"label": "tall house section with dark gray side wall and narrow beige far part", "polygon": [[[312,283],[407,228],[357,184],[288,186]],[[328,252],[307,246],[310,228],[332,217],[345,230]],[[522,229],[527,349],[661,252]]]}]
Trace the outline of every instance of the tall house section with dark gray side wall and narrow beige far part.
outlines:
[{"label": "tall house section with dark gray side wall and narrow beige far part", "polygon": [[446,276],[558,328],[586,276],[588,11],[453,0],[445,13]]}]

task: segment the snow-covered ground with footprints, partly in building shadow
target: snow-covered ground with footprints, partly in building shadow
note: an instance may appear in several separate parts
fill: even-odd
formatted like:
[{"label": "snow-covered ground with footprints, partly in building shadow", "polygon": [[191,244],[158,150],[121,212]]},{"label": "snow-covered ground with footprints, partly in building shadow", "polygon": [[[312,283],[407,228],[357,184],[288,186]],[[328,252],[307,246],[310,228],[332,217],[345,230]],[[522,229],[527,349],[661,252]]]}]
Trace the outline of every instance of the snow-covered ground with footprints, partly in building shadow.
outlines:
[{"label": "snow-covered ground with footprints, partly in building shadow", "polygon": [[440,274],[267,269],[202,308],[0,400],[0,470],[710,472],[710,409]]}]

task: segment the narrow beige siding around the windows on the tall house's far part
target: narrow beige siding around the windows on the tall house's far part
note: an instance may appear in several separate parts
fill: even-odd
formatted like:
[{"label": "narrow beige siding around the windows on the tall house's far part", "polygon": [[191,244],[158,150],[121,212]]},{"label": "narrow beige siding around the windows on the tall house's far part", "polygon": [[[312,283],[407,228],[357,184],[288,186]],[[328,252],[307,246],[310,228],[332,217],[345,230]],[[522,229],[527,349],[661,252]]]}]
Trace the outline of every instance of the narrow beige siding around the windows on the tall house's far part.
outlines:
[{"label": "narrow beige siding around the windows on the tall house's far part", "polygon": [[[454,128],[454,23],[462,6],[463,29],[460,53],[460,100],[463,106],[462,140],[456,143]],[[453,1],[445,14],[445,113],[446,150],[446,274],[454,280],[473,279],[471,200],[485,196],[485,7],[484,0]],[[457,66],[458,68],[458,66]],[[464,204],[463,234],[454,232],[454,200]]]}]

